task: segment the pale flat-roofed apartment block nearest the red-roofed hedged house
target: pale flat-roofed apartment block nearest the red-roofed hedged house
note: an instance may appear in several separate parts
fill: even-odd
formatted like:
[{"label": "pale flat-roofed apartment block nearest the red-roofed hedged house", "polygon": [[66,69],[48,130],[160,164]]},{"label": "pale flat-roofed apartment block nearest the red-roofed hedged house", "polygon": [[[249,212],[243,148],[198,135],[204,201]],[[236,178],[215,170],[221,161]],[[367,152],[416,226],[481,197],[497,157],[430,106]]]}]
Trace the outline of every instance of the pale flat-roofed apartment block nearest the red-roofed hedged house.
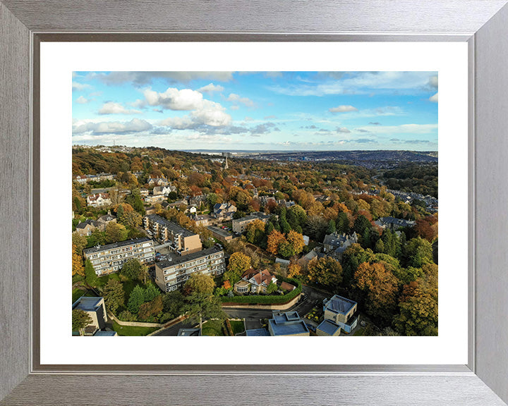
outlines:
[{"label": "pale flat-roofed apartment block nearest the red-roofed hedged house", "polygon": [[224,273],[224,251],[211,247],[200,252],[194,252],[184,257],[168,255],[167,261],[155,264],[155,283],[164,292],[171,292],[183,287],[193,272],[200,271],[210,276]]}]

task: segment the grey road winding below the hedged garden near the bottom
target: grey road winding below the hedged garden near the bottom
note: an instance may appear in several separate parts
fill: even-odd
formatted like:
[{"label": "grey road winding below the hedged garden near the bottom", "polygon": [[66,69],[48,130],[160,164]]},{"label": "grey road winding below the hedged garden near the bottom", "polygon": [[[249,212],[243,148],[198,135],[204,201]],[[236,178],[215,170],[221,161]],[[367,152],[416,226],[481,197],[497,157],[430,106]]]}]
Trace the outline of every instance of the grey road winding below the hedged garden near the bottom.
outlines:
[{"label": "grey road winding below the hedged garden near the bottom", "polygon": [[[310,312],[310,309],[313,307],[320,307],[322,305],[322,300],[327,297],[324,293],[310,288],[309,286],[303,286],[303,293],[304,295],[301,297],[301,300],[296,303],[296,305],[284,310],[284,312],[296,311],[303,317]],[[245,319],[246,329],[248,330],[261,328],[261,320],[270,319],[272,317],[272,310],[268,309],[239,309],[236,307],[224,307],[223,309],[231,319]],[[159,331],[159,333],[154,334],[154,336],[176,336],[180,328],[189,327],[192,326],[188,323],[181,322]]]}]

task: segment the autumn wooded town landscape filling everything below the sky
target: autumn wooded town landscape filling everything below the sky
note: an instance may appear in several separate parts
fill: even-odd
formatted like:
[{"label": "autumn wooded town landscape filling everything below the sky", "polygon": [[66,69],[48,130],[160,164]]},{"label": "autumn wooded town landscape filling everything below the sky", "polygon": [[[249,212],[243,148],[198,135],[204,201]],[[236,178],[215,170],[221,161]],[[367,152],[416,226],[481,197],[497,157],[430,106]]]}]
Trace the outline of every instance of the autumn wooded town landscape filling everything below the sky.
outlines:
[{"label": "autumn wooded town landscape filling everything below the sky", "polygon": [[73,146],[75,336],[437,335],[437,153]]}]

